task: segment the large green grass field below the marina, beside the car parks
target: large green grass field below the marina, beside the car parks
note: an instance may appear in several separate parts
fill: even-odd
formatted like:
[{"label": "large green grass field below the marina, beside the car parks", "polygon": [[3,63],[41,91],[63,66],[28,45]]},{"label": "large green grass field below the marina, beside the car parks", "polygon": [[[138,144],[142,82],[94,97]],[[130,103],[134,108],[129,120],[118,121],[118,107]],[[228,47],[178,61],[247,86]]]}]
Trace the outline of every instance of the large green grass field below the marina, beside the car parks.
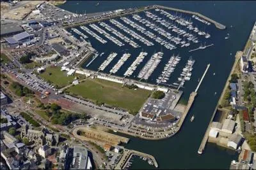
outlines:
[{"label": "large green grass field below the marina, beside the car parks", "polygon": [[132,112],[138,112],[151,94],[149,90],[128,89],[120,83],[100,79],[85,80],[67,91],[93,102],[106,103]]}]

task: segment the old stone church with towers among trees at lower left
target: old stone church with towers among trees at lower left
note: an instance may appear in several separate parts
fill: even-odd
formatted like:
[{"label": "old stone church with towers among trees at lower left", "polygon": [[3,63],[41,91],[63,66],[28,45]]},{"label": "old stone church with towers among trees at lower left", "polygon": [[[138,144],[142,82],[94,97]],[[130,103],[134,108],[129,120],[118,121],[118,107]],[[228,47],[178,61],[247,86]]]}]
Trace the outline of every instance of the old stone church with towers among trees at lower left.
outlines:
[{"label": "old stone church with towers among trees at lower left", "polygon": [[46,128],[43,128],[42,131],[28,129],[27,124],[22,125],[20,137],[26,137],[29,141],[35,142],[38,146],[45,144],[48,144],[49,146],[57,145],[60,138],[58,134],[51,134]]}]

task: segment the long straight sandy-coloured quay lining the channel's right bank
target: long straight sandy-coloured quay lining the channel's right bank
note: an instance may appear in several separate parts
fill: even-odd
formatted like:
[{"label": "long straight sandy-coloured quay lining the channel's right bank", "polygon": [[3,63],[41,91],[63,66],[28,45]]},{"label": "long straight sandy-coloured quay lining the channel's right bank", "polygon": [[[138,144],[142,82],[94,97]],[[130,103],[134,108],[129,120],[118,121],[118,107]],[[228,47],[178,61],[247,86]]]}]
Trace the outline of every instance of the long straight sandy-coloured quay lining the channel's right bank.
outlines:
[{"label": "long straight sandy-coloured quay lining the channel's right bank", "polygon": [[215,110],[214,110],[214,112],[213,112],[213,115],[212,115],[212,117],[211,117],[211,120],[210,120],[210,122],[209,122],[209,125],[208,125],[208,127],[207,127],[207,130],[206,130],[206,132],[205,132],[205,134],[204,134],[204,138],[203,138],[203,140],[202,140],[202,143],[201,143],[201,145],[200,145],[200,147],[199,147],[199,149],[198,149],[198,153],[199,153],[199,154],[202,154],[203,151],[204,151],[205,145],[206,145],[206,143],[207,143],[207,141],[208,141],[208,137],[209,137],[209,132],[210,132],[210,129],[211,129],[212,120],[213,120],[213,118],[215,117],[215,114],[216,114],[216,111],[217,111],[217,109],[218,109],[218,106],[219,106],[219,104],[220,104],[220,102],[221,102],[221,100],[222,100],[222,98],[223,98],[223,96],[224,96],[224,94],[225,94],[225,90],[228,88],[228,80],[230,80],[231,74],[234,72],[234,70],[235,70],[235,68],[236,68],[236,66],[237,66],[237,62],[239,61],[239,59],[241,59],[242,55],[243,55],[243,52],[237,52],[237,53],[236,53],[236,60],[235,60],[234,65],[233,65],[233,67],[232,67],[232,69],[231,69],[231,71],[230,71],[230,74],[229,74],[229,76],[228,76],[228,78],[227,78],[225,87],[224,87],[223,91],[221,92],[220,99],[219,99],[219,101],[218,101],[218,103],[217,103],[217,105],[216,105],[216,107],[215,107]]}]

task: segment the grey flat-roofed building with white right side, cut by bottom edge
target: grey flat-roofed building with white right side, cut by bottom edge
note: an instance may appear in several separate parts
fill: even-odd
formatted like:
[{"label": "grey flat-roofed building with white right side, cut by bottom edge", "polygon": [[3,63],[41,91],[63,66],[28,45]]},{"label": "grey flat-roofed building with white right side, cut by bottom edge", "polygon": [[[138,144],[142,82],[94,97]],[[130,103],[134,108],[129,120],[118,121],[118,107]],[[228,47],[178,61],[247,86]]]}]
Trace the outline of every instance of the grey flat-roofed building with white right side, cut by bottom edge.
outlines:
[{"label": "grey flat-roofed building with white right side, cut by bottom edge", "polygon": [[72,167],[70,169],[92,169],[92,163],[86,148],[74,146]]}]

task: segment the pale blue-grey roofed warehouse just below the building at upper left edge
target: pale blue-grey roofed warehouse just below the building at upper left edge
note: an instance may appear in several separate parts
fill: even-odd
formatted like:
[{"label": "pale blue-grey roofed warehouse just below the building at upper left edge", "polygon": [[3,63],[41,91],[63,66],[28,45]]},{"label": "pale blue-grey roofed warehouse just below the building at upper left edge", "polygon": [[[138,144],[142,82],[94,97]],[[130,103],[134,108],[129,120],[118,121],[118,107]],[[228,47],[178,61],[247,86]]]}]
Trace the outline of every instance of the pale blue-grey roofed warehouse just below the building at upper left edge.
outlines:
[{"label": "pale blue-grey roofed warehouse just below the building at upper left edge", "polygon": [[9,45],[20,45],[26,41],[30,41],[33,38],[33,35],[28,34],[28,32],[21,32],[15,36],[5,38]]}]

